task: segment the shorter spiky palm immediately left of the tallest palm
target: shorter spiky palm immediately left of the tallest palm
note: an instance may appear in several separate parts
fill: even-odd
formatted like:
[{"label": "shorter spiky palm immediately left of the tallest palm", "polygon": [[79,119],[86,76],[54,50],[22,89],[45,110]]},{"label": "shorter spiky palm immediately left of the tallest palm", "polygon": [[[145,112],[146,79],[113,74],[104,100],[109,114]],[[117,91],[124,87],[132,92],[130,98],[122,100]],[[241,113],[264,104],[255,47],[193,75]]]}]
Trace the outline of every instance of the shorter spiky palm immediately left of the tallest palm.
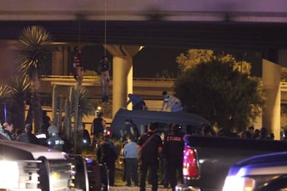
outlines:
[{"label": "shorter spiky palm immediately left of the tallest palm", "polygon": [[10,91],[10,105],[13,113],[12,122],[15,127],[24,129],[26,98],[30,93],[30,80],[24,75],[15,75],[8,82]]}]

